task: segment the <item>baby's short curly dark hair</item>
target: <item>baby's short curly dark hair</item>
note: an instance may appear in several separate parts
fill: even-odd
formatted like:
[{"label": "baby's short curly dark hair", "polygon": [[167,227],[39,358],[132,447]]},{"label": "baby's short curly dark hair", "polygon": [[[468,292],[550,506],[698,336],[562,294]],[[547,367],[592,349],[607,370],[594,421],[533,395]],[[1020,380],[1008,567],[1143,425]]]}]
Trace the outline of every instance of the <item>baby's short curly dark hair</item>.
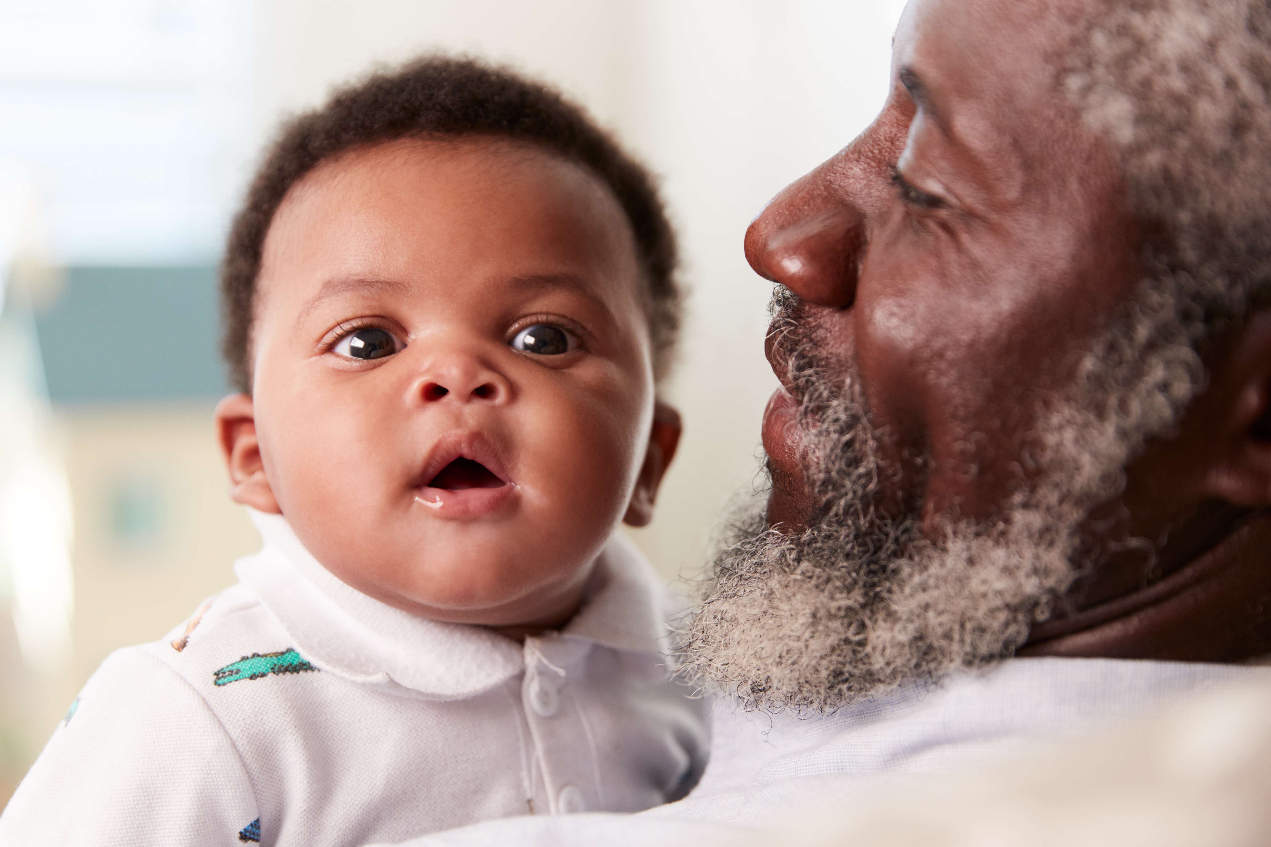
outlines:
[{"label": "baby's short curly dark hair", "polygon": [[252,390],[249,348],[261,257],[291,187],[319,163],[355,147],[460,136],[536,145],[582,165],[609,187],[643,264],[653,373],[666,376],[680,328],[679,254],[653,178],[580,105],[547,85],[477,60],[431,55],[339,89],[322,108],[283,124],[234,217],[221,264],[221,352],[235,389]]}]

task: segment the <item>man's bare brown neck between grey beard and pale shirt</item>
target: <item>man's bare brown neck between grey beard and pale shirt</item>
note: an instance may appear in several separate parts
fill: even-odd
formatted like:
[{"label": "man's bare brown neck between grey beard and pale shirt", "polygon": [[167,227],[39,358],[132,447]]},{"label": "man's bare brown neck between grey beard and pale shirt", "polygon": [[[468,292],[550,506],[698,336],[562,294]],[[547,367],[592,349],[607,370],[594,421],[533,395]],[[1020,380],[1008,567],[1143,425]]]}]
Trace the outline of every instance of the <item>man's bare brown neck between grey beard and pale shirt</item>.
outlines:
[{"label": "man's bare brown neck between grey beard and pale shirt", "polygon": [[1271,653],[1271,516],[1146,588],[1040,625],[1017,655],[1242,662]]}]

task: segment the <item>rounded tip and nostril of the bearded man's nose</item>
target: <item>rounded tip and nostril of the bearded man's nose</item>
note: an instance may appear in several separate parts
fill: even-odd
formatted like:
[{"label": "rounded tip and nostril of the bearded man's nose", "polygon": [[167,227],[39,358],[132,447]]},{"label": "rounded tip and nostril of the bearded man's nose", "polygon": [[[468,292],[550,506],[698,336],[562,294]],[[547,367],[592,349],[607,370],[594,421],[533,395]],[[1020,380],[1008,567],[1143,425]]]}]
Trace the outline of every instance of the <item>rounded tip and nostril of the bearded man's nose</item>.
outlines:
[{"label": "rounded tip and nostril of the bearded man's nose", "polygon": [[806,302],[846,309],[857,297],[864,213],[829,188],[817,169],[773,198],[746,230],[746,260]]}]

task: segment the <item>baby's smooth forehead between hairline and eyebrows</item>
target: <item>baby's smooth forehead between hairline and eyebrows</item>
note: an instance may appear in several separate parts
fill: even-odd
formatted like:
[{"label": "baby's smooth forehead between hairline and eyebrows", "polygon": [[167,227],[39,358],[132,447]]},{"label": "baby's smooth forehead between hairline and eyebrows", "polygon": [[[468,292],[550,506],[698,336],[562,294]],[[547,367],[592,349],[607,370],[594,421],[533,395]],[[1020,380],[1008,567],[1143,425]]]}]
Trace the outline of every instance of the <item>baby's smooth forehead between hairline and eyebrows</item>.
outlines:
[{"label": "baby's smooth forehead between hairline and eyebrows", "polygon": [[644,296],[632,226],[604,182],[538,146],[472,136],[391,141],[323,161],[275,215],[258,302],[316,278],[421,274],[455,284],[573,274]]}]

